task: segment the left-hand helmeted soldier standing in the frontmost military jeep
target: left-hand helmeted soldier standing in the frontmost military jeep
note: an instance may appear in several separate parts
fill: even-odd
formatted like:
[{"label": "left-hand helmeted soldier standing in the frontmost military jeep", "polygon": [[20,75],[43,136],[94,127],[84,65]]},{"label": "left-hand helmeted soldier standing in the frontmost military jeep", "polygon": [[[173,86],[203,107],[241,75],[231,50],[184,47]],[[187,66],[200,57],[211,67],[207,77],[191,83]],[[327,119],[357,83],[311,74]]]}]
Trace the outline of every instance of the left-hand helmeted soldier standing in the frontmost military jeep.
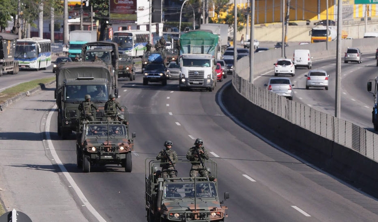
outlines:
[{"label": "left-hand helmeted soldier standing in the frontmost military jeep", "polygon": [[162,178],[166,179],[168,177],[173,178],[176,177],[176,169],[174,165],[177,163],[177,153],[176,151],[172,150],[172,141],[166,140],[164,142],[165,149],[160,151],[159,154],[156,156],[157,160],[160,160],[161,164],[161,174]]}]

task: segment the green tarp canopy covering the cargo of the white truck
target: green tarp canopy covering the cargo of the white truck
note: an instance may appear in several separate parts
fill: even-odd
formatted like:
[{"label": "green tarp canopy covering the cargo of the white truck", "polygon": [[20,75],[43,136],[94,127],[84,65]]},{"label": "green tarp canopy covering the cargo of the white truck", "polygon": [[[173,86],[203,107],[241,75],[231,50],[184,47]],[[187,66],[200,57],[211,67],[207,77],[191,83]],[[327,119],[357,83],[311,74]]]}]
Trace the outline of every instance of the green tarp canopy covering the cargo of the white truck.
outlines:
[{"label": "green tarp canopy covering the cargo of the white truck", "polygon": [[180,37],[181,54],[215,55],[219,37],[208,31],[190,31]]}]

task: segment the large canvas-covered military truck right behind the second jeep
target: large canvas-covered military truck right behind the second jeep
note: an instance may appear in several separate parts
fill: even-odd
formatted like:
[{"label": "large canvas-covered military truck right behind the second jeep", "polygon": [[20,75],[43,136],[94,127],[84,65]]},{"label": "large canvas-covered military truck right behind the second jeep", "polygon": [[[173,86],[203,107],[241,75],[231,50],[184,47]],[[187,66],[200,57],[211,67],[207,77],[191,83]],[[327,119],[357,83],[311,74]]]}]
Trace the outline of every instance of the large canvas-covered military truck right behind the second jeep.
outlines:
[{"label": "large canvas-covered military truck right behind the second jeep", "polygon": [[[58,106],[57,131],[62,139],[67,139],[72,131],[80,129],[78,106],[86,94],[100,109],[96,118],[104,117],[104,105],[109,94],[118,91],[112,81],[112,73],[104,63],[68,62],[56,67],[55,99]],[[102,90],[103,93],[98,93]],[[100,95],[100,96],[99,96]]]}]

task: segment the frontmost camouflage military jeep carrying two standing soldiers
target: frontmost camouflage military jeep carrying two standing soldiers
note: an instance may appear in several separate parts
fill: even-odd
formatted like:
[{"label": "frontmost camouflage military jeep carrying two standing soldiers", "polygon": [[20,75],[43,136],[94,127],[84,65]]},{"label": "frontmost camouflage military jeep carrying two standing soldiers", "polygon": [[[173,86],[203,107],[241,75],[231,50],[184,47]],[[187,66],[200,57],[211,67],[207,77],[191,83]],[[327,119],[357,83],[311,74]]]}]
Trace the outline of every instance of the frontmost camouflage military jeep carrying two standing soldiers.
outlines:
[{"label": "frontmost camouflage military jeep carrying two standing soldiers", "polygon": [[[218,196],[217,165],[212,160],[205,161],[210,177],[160,177],[160,160],[147,158],[146,168],[146,210],[147,221],[224,221],[227,206]],[[191,162],[178,157],[177,168],[187,168]],[[224,200],[229,193],[224,193]]]}]

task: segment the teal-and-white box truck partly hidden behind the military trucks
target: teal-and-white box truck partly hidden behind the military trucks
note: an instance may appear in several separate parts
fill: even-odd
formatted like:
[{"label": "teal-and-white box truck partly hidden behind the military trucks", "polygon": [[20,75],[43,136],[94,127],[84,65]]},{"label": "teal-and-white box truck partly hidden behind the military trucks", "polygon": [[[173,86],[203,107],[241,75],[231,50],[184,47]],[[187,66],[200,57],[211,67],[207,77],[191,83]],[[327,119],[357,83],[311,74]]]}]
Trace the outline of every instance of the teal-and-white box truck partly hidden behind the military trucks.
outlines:
[{"label": "teal-and-white box truck partly hidden behind the military trucks", "polygon": [[75,57],[81,56],[82,46],[88,42],[97,41],[97,31],[74,30],[70,32],[68,56],[75,61]]}]

